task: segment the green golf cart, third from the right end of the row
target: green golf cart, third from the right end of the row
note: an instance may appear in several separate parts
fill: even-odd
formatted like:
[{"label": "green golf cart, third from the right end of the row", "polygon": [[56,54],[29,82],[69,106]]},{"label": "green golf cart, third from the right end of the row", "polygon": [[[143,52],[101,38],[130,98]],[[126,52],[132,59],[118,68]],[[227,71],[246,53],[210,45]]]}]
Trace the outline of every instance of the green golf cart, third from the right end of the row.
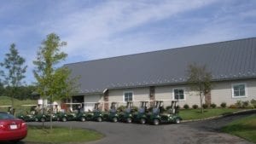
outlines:
[{"label": "green golf cart, third from the right end of the row", "polygon": [[120,121],[126,122],[126,123],[131,123],[132,122],[133,117],[132,117],[131,107],[133,107],[133,102],[132,101],[127,101],[125,112],[121,112],[119,114],[119,120]]}]

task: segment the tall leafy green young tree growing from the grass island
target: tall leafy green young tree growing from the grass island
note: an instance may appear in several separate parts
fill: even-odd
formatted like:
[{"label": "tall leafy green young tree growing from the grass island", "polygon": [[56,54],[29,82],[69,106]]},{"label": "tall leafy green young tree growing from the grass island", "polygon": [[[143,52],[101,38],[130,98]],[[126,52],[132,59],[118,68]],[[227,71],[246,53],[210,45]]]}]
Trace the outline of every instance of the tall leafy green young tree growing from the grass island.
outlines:
[{"label": "tall leafy green young tree growing from the grass island", "polygon": [[[57,68],[58,64],[67,57],[67,54],[61,52],[61,47],[66,45],[67,43],[61,42],[60,37],[55,33],[50,33],[38,50],[37,60],[33,61],[36,65],[34,76],[38,81],[38,94],[44,99],[48,98],[50,104],[52,100],[60,100],[64,92],[71,95],[71,91],[67,90],[71,87],[67,79],[70,72],[64,67]],[[52,106],[50,109],[52,112]],[[52,121],[51,117],[50,121]]]}]

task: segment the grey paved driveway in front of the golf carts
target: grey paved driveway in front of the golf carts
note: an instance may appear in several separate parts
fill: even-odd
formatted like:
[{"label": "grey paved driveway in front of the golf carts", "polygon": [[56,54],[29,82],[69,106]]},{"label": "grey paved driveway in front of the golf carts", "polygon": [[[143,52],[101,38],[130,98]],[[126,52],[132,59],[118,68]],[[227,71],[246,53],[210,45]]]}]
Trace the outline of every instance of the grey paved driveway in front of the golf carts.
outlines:
[{"label": "grey paved driveway in front of the golf carts", "polygon": [[55,122],[54,125],[97,130],[106,135],[102,140],[88,144],[249,143],[239,137],[218,132],[221,126],[238,117],[242,116],[158,126],[109,122]]}]

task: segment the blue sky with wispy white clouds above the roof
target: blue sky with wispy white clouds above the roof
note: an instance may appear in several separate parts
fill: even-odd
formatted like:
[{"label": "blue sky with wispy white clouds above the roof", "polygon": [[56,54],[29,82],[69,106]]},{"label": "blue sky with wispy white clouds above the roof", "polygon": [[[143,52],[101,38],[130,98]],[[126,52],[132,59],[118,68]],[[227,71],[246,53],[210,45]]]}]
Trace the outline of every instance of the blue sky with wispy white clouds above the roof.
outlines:
[{"label": "blue sky with wispy white clouds above the roof", "polygon": [[28,66],[55,32],[67,46],[61,63],[256,37],[255,0],[0,1],[0,61],[16,44]]}]

